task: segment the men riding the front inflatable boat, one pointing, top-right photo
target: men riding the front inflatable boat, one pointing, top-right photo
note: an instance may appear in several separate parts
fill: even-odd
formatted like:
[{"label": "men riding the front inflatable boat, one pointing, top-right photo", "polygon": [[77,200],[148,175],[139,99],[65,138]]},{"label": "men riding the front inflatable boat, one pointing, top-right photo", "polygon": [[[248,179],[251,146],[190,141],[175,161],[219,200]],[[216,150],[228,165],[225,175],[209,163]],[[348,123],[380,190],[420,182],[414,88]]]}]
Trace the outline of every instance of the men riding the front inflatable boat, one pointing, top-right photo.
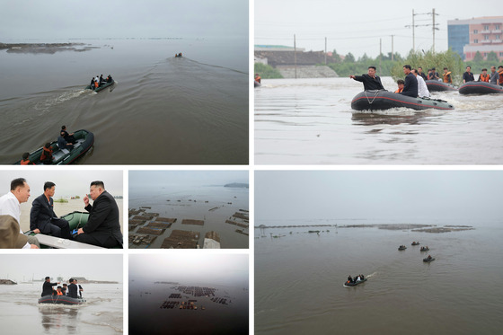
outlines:
[{"label": "men riding the front inflatable boat, one pointing, top-right photo", "polygon": [[[413,98],[430,97],[428,87],[423,77],[419,75],[418,69],[412,68],[410,65],[405,65],[403,66],[403,74],[405,75],[405,80],[401,79],[397,82],[398,89],[395,93],[407,95]],[[349,75],[349,78],[354,79],[357,82],[362,82],[365,91],[384,90],[381,78],[378,75],[375,75],[375,66],[368,66],[366,75]]]}]

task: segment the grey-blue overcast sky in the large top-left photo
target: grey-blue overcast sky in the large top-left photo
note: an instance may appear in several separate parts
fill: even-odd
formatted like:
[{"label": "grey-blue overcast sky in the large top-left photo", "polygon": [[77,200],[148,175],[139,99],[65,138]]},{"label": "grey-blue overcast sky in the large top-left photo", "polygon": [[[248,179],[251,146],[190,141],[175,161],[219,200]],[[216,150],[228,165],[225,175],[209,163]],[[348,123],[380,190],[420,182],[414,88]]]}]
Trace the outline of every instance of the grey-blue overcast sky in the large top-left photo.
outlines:
[{"label": "grey-blue overcast sky in the large top-left photo", "polygon": [[1,8],[0,42],[248,37],[243,0],[3,0]]}]

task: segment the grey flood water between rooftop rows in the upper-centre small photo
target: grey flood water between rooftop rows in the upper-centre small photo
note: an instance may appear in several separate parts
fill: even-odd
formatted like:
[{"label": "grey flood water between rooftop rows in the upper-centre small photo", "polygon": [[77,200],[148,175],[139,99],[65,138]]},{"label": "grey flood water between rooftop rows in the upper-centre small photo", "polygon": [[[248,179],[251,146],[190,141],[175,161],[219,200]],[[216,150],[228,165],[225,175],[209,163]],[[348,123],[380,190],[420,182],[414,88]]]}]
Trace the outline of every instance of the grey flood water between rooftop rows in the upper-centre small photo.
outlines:
[{"label": "grey flood water between rooftop rows in the upper-centre small photo", "polygon": [[[242,221],[230,216],[240,209],[248,210],[248,198],[248,189],[224,186],[130,188],[129,208],[151,207],[146,212],[177,219],[164,234],[157,236],[150,248],[160,248],[174,229],[199,232],[201,247],[205,234],[214,231],[220,236],[221,248],[248,248],[249,236],[236,233],[236,229],[243,229],[244,233],[248,233],[248,229],[225,223],[227,219]],[[182,219],[204,220],[204,225],[181,225]],[[129,243],[129,247],[136,246]]]}]

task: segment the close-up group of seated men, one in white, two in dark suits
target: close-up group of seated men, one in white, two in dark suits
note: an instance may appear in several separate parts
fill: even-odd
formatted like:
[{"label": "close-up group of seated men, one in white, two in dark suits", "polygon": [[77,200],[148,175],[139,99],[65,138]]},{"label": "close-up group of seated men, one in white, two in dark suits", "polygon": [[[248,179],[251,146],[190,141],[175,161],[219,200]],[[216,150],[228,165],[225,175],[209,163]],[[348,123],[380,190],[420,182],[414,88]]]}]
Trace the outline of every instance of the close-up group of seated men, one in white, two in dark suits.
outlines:
[{"label": "close-up group of seated men, one in white, two in dark suits", "polygon": [[[89,195],[84,196],[84,209],[89,212],[84,227],[73,232],[64,218],[54,212],[53,196],[56,184],[46,181],[44,192],[33,200],[30,210],[30,230],[34,234],[47,234],[57,238],[93,244],[103,248],[122,247],[119,207],[113,196],[105,190],[103,181],[92,181]],[[25,235],[20,227],[21,204],[30,198],[30,186],[24,178],[11,181],[11,191],[0,197],[0,248],[39,249],[37,236]],[[89,199],[93,199],[93,205]],[[13,234],[19,232],[19,234]]]}]

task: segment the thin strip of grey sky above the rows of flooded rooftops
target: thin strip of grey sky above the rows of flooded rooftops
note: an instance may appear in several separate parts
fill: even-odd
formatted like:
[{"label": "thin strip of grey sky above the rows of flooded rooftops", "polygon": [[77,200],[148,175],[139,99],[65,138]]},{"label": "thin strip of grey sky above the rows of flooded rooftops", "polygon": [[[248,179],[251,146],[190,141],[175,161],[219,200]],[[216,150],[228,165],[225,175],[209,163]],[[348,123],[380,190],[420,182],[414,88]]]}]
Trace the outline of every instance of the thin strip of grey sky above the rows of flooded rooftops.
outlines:
[{"label": "thin strip of grey sky above the rows of flooded rooftops", "polygon": [[129,171],[129,188],[224,185],[231,182],[248,183],[248,171]]}]

